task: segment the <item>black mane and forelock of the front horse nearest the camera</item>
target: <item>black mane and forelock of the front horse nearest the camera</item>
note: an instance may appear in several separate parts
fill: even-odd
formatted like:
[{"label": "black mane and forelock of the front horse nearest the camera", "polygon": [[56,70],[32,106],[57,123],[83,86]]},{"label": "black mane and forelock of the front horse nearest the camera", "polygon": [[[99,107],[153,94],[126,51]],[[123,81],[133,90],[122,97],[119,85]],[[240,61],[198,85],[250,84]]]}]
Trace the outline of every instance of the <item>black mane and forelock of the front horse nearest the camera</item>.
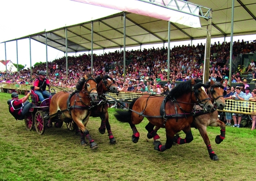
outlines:
[{"label": "black mane and forelock of the front horse nearest the camera", "polygon": [[[174,87],[169,94],[167,95],[168,98],[179,98],[184,96],[184,94],[191,93],[192,91],[192,80],[187,80],[186,82],[181,82],[181,84]],[[194,89],[198,89],[199,87],[204,86],[201,82],[193,85]]]}]

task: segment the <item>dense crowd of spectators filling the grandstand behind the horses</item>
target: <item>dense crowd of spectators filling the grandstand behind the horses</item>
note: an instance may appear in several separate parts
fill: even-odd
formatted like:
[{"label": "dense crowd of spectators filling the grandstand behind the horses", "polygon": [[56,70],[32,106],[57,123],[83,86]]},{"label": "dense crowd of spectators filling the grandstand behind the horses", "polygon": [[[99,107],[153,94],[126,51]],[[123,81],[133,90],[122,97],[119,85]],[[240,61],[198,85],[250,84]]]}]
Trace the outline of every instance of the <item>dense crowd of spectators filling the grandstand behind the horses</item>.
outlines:
[{"label": "dense crowd of spectators filling the grandstand behind the horses", "polygon": [[[229,87],[230,92],[235,93],[237,90],[238,92],[245,92],[248,86],[247,80],[242,80],[239,72],[232,74],[230,79],[232,83],[242,83],[241,90],[228,85],[230,71],[228,64],[230,58],[229,50],[230,42],[215,42],[211,45],[209,80],[212,79],[218,82],[224,80],[223,85],[225,89]],[[128,64],[125,67],[123,67],[123,52],[119,51],[101,55],[93,54],[94,66],[92,68],[91,54],[84,53],[79,56],[68,56],[68,76],[66,76],[66,57],[55,59],[52,62],[48,62],[48,80],[53,86],[74,88],[80,78],[90,73],[91,69],[93,69],[95,76],[101,74],[109,75],[116,80],[119,91],[167,94],[176,86],[176,81],[202,80],[204,52],[205,45],[202,43],[172,48],[170,52],[170,80],[166,85],[160,85],[158,82],[167,81],[167,47],[126,51]],[[256,42],[249,43],[243,40],[234,42],[232,59],[241,53],[256,53]],[[248,65],[247,71],[249,69],[252,70],[254,75],[255,69],[252,66],[255,66],[255,64],[253,65],[252,62],[250,66]],[[123,73],[124,69],[126,70],[125,75]],[[46,71],[46,63],[32,67],[32,75],[29,68],[23,69],[18,73],[0,73],[0,82],[33,85],[41,70]],[[247,97],[249,99],[249,96]],[[231,116],[228,115],[228,120],[230,119]],[[239,122],[240,119],[238,120]]]}]

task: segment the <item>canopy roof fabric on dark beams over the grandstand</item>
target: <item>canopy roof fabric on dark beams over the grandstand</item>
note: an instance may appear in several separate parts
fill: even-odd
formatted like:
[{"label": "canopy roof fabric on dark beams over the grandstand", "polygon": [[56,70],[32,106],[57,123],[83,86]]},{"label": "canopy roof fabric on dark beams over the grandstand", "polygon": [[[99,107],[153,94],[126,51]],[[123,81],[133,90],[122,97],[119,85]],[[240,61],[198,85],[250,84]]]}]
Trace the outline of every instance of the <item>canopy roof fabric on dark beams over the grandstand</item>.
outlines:
[{"label": "canopy roof fabric on dark beams over the grandstand", "polygon": [[[212,37],[227,37],[231,32],[232,0],[189,0],[189,2],[211,8]],[[80,2],[77,2],[78,5]],[[234,36],[256,33],[256,0],[235,0]],[[203,12],[205,13],[205,12]],[[86,16],[86,12],[85,12]],[[201,28],[191,28],[171,22],[171,42],[206,38],[208,21],[200,19]],[[123,12],[101,17],[93,21],[93,49],[122,48],[124,32]],[[68,52],[91,50],[91,21],[67,27]],[[29,35],[17,38],[28,38]],[[30,35],[45,44],[45,32]],[[47,31],[47,44],[66,51],[65,27]],[[13,40],[10,40],[13,41]],[[126,13],[126,47],[168,42],[168,22],[154,17]]]}]

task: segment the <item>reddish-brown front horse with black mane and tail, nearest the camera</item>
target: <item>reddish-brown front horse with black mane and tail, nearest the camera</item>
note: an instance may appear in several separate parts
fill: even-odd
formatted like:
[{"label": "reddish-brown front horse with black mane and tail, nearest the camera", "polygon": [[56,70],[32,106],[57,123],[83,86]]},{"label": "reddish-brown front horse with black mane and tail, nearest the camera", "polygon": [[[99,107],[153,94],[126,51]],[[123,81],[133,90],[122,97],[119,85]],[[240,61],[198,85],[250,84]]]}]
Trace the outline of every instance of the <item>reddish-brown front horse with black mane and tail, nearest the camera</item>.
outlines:
[{"label": "reddish-brown front horse with black mane and tail, nearest the camera", "polygon": [[[193,106],[197,103],[203,104],[203,109],[208,112],[213,108],[204,85],[188,80],[175,87],[166,97],[144,95],[136,98],[130,104],[128,111],[117,110],[114,116],[118,121],[130,124],[133,130],[133,143],[139,140],[139,132],[135,124],[139,124],[146,117],[150,122],[146,129],[154,138],[154,149],[162,152],[171,148],[175,134],[181,130],[189,135],[187,140],[193,139],[190,125],[193,121]],[[154,126],[165,128],[165,145],[160,143],[160,137],[154,131]]]}]

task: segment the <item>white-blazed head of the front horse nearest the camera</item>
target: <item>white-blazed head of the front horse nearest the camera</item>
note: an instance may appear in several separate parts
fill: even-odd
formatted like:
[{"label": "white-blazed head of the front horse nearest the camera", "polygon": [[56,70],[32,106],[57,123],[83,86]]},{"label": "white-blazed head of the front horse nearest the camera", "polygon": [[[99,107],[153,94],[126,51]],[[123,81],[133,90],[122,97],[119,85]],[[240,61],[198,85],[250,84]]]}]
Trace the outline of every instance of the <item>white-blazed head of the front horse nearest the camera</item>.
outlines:
[{"label": "white-blazed head of the front horse nearest the camera", "polygon": [[208,90],[206,86],[201,82],[196,83],[193,79],[191,80],[191,85],[192,92],[194,93],[192,100],[201,105],[206,112],[211,112],[213,103],[210,101],[210,98],[207,95]]}]

